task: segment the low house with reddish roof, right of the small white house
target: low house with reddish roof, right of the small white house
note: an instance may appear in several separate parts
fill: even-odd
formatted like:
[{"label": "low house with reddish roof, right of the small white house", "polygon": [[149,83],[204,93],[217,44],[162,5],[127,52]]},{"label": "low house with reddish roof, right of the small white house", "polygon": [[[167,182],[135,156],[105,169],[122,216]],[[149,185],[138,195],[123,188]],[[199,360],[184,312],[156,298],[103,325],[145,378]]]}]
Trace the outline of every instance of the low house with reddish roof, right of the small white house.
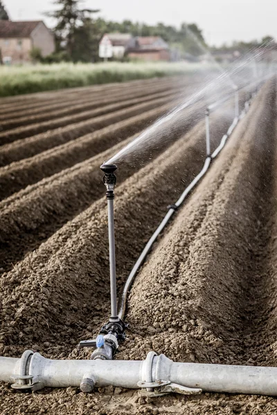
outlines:
[{"label": "low house with reddish roof, right of the small white house", "polygon": [[170,61],[168,44],[159,36],[137,36],[128,44],[127,55],[144,61]]}]

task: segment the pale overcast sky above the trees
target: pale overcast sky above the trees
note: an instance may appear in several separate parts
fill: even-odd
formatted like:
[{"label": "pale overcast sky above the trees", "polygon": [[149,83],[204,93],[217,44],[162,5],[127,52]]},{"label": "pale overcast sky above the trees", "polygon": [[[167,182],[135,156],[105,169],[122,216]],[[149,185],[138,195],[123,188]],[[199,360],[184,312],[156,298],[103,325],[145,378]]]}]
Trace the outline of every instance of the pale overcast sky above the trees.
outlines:
[{"label": "pale overcast sky above the trees", "polygon": [[[42,12],[53,10],[51,0],[3,0],[12,20],[44,19]],[[99,8],[105,19],[179,26],[182,21],[197,23],[208,44],[233,40],[249,41],[271,35],[277,39],[277,0],[84,0]]]}]

